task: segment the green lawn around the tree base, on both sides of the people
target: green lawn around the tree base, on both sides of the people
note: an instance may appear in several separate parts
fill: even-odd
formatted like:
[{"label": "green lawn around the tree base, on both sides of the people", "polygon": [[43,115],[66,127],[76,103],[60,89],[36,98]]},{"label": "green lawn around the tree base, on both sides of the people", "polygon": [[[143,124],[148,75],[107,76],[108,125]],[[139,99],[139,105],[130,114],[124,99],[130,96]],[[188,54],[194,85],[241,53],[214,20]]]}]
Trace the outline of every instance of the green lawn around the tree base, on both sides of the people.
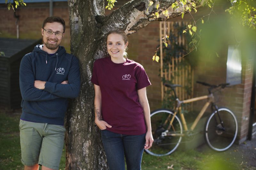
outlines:
[{"label": "green lawn around the tree base, on both sides of the people", "polygon": [[[20,154],[19,136],[20,115],[6,114],[0,110],[0,169],[20,170],[23,169]],[[232,150],[231,150],[232,151]],[[229,151],[231,153],[231,151]],[[65,150],[63,149],[60,169],[65,169]],[[225,157],[223,156],[225,155]],[[141,168],[142,170],[236,170],[243,169],[241,161],[235,159],[232,154],[223,152],[212,152],[204,149],[186,150],[179,147],[171,155],[155,157],[144,152]]]}]

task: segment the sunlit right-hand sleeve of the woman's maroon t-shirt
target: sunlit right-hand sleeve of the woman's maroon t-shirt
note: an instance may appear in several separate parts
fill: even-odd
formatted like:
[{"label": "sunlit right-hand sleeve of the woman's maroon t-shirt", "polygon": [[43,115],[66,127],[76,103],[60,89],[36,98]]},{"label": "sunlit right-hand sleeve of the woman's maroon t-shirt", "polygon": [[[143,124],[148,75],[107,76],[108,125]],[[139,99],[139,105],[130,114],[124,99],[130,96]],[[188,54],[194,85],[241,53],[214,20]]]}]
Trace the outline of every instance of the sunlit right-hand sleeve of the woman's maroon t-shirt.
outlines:
[{"label": "sunlit right-hand sleeve of the woman's maroon t-shirt", "polygon": [[136,67],[135,77],[136,77],[136,80],[137,80],[137,83],[136,83],[136,89],[137,90],[140,90],[144,87],[147,87],[147,86],[151,85],[151,83],[148,79],[148,75],[147,75],[147,73],[144,70],[142,65],[138,65]]}]

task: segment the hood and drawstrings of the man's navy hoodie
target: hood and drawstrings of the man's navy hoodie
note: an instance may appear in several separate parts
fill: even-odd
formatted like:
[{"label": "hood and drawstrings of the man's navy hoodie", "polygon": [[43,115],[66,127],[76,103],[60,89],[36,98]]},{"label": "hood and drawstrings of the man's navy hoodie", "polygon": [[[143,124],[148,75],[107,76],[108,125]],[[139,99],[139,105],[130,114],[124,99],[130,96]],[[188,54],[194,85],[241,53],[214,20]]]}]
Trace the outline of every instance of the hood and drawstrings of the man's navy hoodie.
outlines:
[{"label": "hood and drawstrings of the man's navy hoodie", "polygon": [[[45,56],[45,62],[47,64],[47,59],[48,59],[48,53],[43,51],[42,48],[44,47],[44,45],[36,45],[36,47],[34,48],[33,52],[38,52],[40,53],[41,55]],[[49,55],[49,57],[57,57],[57,61],[56,61],[56,64],[55,64],[55,70],[57,68],[57,65],[58,65],[58,57],[61,57],[62,54],[65,54],[66,53],[66,50],[63,46],[59,46],[59,49],[56,51],[56,53],[54,55]]]}]

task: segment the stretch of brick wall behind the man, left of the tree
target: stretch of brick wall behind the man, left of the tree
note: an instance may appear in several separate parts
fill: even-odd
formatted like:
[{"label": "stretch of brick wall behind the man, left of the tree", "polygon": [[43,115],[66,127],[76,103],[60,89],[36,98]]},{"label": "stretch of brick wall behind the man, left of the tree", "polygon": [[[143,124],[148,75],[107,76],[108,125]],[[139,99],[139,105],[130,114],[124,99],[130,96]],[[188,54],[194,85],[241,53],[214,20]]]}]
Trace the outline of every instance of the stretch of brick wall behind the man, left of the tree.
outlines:
[{"label": "stretch of brick wall behind the man, left of the tree", "polygon": [[[0,4],[0,37],[16,38],[16,18],[13,10],[7,10],[5,4]],[[40,39],[42,38],[41,28],[45,18],[49,16],[49,3],[27,3],[26,7],[20,6],[16,10],[19,15],[20,39]],[[68,14],[68,2],[54,2],[53,15],[62,17],[66,22],[66,31],[61,45],[70,52],[70,25]]]}]

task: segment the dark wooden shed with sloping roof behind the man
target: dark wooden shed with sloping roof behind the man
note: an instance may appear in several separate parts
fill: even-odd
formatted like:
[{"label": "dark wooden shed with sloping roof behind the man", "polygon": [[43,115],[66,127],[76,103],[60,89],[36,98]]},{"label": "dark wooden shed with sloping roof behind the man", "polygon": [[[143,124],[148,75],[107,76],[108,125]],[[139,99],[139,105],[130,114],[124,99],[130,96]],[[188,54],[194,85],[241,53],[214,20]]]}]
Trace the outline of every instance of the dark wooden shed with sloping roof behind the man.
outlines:
[{"label": "dark wooden shed with sloping roof behind the man", "polygon": [[0,38],[0,105],[9,109],[20,108],[19,70],[22,57],[34,49],[40,40]]}]

